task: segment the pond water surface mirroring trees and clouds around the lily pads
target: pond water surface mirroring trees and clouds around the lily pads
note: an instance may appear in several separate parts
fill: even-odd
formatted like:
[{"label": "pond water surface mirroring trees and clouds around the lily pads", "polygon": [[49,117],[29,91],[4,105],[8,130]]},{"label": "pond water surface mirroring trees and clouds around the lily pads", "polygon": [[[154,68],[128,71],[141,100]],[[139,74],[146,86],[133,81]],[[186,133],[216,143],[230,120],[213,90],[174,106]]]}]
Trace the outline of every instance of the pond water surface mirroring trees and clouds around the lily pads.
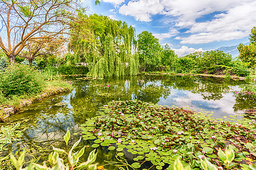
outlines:
[{"label": "pond water surface mirroring trees and clouds around the lily pads", "polygon": [[[24,135],[18,143],[9,146],[9,152],[25,147],[39,161],[46,160],[50,146],[63,147],[63,136],[67,128],[72,134],[77,133],[72,136],[73,142],[77,141],[80,137],[80,124],[86,122],[87,118],[96,116],[100,107],[112,100],[136,99],[170,107],[190,108],[212,114],[213,118],[226,119],[234,115],[241,118],[239,113],[256,107],[255,95],[236,94],[236,91],[240,91],[240,85],[249,83],[244,80],[179,75],[65,79],[73,82],[75,88],[71,92],[31,104],[10,117],[10,122],[22,123]],[[91,141],[82,141],[80,146],[91,144]],[[92,150],[93,148],[88,147],[86,153]],[[101,164],[103,160],[115,160],[113,151],[101,147],[97,152],[97,162]]]}]

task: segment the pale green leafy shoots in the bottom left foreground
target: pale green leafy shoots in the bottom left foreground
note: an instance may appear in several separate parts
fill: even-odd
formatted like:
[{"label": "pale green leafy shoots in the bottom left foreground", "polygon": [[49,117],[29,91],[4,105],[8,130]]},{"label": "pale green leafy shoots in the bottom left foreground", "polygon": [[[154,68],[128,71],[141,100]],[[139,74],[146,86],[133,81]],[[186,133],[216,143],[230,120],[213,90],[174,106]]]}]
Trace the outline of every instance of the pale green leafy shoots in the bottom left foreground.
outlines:
[{"label": "pale green leafy shoots in the bottom left foreground", "polygon": [[[97,163],[93,164],[97,158],[97,153],[95,153],[96,150],[93,150],[90,152],[88,159],[86,162],[79,162],[79,159],[81,158],[82,155],[84,155],[85,147],[82,147],[79,151],[74,152],[73,150],[79,145],[81,138],[79,141],[74,143],[74,145],[71,147],[71,149],[68,149],[68,141],[70,139],[70,132],[67,130],[67,133],[64,136],[64,141],[66,143],[66,148],[67,150],[63,150],[60,148],[55,148],[53,147],[53,152],[49,154],[48,160],[46,160],[43,165],[37,164],[37,163],[31,163],[28,165],[26,170],[32,170],[32,169],[37,169],[37,170],[48,170],[48,169],[60,169],[60,170],[65,170],[65,169],[80,169],[80,168],[85,168],[85,169],[97,169]],[[24,164],[24,157],[25,157],[26,152],[23,151],[22,154],[19,156],[18,159],[15,158],[15,156],[11,153],[10,154],[10,159],[11,162],[13,163],[14,167],[17,170],[22,169],[23,164]],[[60,154],[64,154],[63,158],[60,158]],[[67,163],[65,163],[64,158],[68,158]]]}]

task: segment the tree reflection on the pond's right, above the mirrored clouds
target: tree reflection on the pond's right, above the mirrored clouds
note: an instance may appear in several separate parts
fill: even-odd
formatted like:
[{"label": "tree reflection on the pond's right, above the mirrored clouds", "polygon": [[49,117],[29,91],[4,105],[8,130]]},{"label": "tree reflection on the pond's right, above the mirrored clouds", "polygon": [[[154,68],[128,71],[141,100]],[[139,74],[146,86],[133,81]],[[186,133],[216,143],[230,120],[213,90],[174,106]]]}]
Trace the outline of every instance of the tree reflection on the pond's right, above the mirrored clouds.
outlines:
[{"label": "tree reflection on the pond's right, above the mirrored clouds", "polygon": [[162,83],[165,86],[172,86],[174,89],[191,91],[193,94],[199,93],[204,100],[220,100],[223,94],[228,94],[232,86],[244,84],[242,80],[226,81],[224,78],[197,77],[197,76],[170,76]]}]

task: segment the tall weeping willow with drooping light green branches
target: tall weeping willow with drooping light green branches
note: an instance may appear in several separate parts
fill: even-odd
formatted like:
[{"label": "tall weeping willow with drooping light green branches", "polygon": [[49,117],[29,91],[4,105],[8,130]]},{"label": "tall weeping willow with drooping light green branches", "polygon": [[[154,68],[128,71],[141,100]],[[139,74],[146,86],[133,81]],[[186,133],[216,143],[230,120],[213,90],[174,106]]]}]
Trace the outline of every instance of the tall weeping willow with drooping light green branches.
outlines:
[{"label": "tall weeping willow with drooping light green branches", "polygon": [[80,14],[74,25],[69,48],[88,64],[88,76],[138,74],[139,57],[133,27],[97,14]]}]

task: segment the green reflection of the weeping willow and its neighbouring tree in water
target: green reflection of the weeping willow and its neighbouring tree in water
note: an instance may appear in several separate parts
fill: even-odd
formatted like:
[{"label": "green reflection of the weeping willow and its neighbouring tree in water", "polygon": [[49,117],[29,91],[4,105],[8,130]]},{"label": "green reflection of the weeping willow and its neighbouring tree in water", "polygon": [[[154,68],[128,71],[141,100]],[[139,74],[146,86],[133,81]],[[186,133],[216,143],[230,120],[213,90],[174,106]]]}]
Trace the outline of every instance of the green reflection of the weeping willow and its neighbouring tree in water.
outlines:
[{"label": "green reflection of the weeping willow and its neighbouring tree in water", "polygon": [[[109,85],[109,87],[108,87]],[[98,108],[112,100],[138,99],[157,103],[160,97],[170,94],[170,89],[158,83],[152,76],[125,76],[122,78],[84,80],[77,83],[76,93],[70,103],[75,122],[85,122]]]}]

